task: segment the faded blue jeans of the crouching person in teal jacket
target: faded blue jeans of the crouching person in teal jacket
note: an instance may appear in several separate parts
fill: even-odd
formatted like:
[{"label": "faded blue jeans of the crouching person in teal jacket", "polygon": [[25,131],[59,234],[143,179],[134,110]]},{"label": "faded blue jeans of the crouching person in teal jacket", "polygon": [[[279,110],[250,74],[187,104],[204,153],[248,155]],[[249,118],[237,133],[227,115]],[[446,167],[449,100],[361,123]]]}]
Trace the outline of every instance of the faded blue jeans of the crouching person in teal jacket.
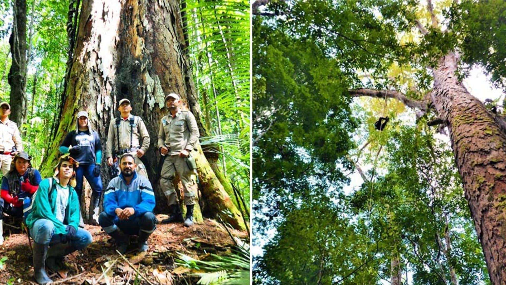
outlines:
[{"label": "faded blue jeans of the crouching person in teal jacket", "polygon": [[[54,245],[60,243],[60,235],[55,234],[55,225],[47,219],[39,219],[35,221],[33,227],[30,229],[30,236],[36,243]],[[85,229],[77,228],[77,232],[68,243],[74,247],[75,250],[82,250],[92,243],[92,235]]]}]

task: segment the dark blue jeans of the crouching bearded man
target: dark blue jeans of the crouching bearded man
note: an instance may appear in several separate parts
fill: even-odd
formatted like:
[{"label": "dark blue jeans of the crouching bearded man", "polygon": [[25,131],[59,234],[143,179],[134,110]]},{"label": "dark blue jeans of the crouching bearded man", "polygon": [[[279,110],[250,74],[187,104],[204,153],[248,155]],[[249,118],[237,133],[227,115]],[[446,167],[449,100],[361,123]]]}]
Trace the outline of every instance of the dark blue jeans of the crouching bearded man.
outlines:
[{"label": "dark blue jeans of the crouching bearded man", "polygon": [[105,211],[101,212],[98,217],[98,223],[108,234],[118,228],[127,235],[138,235],[139,231],[152,233],[156,229],[157,222],[152,212],[145,212],[128,220],[119,220],[117,216],[109,216]]}]

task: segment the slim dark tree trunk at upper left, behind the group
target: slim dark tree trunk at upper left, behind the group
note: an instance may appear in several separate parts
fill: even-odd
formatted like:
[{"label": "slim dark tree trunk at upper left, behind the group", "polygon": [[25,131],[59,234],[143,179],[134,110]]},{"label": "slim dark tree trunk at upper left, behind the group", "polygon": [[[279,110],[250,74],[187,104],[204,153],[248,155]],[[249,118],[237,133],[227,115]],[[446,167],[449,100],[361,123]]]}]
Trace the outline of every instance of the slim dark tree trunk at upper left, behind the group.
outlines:
[{"label": "slim dark tree trunk at upper left, behind the group", "polygon": [[12,112],[9,118],[21,127],[26,121],[26,0],[15,0],[13,10],[14,24],[9,38],[12,54],[8,76]]}]

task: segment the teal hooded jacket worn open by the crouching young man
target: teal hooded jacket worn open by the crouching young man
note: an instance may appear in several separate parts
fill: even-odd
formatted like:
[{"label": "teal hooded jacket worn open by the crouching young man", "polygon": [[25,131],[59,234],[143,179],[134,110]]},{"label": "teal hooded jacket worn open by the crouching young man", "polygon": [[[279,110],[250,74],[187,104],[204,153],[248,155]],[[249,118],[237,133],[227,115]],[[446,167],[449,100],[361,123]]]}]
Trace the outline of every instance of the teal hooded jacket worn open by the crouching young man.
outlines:
[{"label": "teal hooded jacket worn open by the crouching young man", "polygon": [[[53,180],[52,187],[50,179]],[[63,223],[56,219],[56,180],[47,178],[40,182],[37,191],[33,194],[33,202],[31,204],[31,212],[26,217],[26,226],[31,229],[33,224],[39,219],[47,219],[55,225],[55,234],[65,234],[67,225],[71,225],[77,230],[79,225],[79,198],[74,188],[68,186],[68,204],[65,210],[65,219]]]}]

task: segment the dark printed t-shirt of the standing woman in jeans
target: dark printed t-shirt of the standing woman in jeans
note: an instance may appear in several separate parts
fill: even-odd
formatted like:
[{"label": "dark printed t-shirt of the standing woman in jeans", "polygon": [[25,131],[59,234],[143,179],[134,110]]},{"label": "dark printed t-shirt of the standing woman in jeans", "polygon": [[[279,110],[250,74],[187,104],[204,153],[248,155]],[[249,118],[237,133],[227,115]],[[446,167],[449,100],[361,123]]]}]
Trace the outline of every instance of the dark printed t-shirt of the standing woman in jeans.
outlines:
[{"label": "dark printed t-shirt of the standing woman in jeans", "polygon": [[102,150],[102,144],[98,133],[89,130],[86,131],[70,131],[65,140],[63,140],[62,147],[81,147],[81,153],[76,157],[73,157],[77,162],[82,164],[94,164],[95,163],[95,152]]}]

